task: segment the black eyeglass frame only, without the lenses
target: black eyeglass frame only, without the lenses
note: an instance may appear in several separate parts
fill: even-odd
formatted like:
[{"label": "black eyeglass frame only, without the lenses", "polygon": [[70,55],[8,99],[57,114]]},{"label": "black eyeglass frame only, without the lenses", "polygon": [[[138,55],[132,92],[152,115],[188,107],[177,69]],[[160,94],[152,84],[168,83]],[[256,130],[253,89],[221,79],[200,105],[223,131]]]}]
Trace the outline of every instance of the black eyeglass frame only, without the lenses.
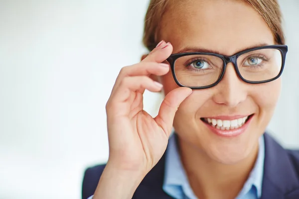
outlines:
[{"label": "black eyeglass frame only, without the lenses", "polygon": [[[280,70],[279,74],[275,78],[272,78],[272,79],[269,79],[269,80],[264,80],[264,81],[248,81],[248,80],[244,79],[242,77],[242,75],[240,74],[239,69],[238,69],[238,64],[237,64],[238,57],[240,57],[241,55],[243,55],[245,53],[248,53],[250,51],[260,50],[260,49],[269,49],[269,48],[277,49],[281,52],[282,66],[281,66],[281,70]],[[236,53],[232,56],[225,56],[225,55],[220,55],[220,54],[215,54],[215,53],[202,53],[202,52],[177,53],[177,54],[171,54],[166,59],[166,61],[170,64],[173,79],[174,79],[175,83],[178,86],[187,87],[187,88],[190,88],[190,89],[208,89],[208,88],[216,86],[222,80],[222,78],[224,76],[224,73],[225,73],[225,70],[226,70],[226,66],[230,62],[233,63],[235,71],[238,74],[239,78],[242,81],[246,82],[246,83],[249,83],[249,84],[262,84],[262,83],[272,82],[272,81],[278,79],[282,75],[282,73],[284,71],[284,67],[285,67],[287,52],[288,52],[288,46],[287,45],[269,45],[269,46],[260,46],[260,47],[250,48],[250,49],[238,52],[238,53]],[[175,64],[175,61],[178,58],[183,57],[183,56],[187,56],[187,55],[211,55],[211,56],[216,56],[216,57],[221,58],[223,60],[223,69],[222,69],[222,72],[221,72],[218,80],[214,84],[211,84],[211,85],[208,85],[208,86],[203,86],[203,87],[188,87],[188,86],[184,86],[184,85],[180,84],[178,82],[177,78],[176,78],[176,75],[175,75],[174,64]]]}]

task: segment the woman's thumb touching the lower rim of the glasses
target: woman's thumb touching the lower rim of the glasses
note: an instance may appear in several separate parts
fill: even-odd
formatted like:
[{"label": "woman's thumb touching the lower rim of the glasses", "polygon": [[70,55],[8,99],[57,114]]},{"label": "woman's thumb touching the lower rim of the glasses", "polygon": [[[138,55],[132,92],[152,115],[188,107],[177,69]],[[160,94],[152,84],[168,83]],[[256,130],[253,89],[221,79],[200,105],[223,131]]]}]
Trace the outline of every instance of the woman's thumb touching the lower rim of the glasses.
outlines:
[{"label": "woman's thumb touching the lower rim of the glasses", "polygon": [[173,118],[180,103],[185,100],[192,90],[185,87],[180,87],[169,92],[162,101],[159,113],[154,118],[156,123],[164,130],[167,136],[170,135]]}]

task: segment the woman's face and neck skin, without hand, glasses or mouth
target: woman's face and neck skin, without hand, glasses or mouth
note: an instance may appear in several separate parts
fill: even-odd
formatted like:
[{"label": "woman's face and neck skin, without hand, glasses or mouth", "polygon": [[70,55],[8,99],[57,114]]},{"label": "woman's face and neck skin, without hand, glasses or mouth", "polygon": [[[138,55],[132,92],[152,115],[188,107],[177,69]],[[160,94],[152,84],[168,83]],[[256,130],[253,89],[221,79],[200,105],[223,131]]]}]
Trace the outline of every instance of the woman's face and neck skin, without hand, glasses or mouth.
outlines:
[{"label": "woman's face and neck skin, without hand, glasses or mouth", "polygon": [[[196,47],[233,55],[261,43],[275,44],[265,21],[243,1],[191,0],[183,7],[172,6],[163,19],[160,37],[171,42],[173,53]],[[161,83],[165,94],[178,87],[171,73],[163,76]],[[180,104],[173,126],[191,187],[198,190],[199,198],[223,199],[224,192],[228,192],[227,198],[237,196],[254,165],[258,138],[273,115],[280,90],[281,79],[258,85],[243,82],[230,63],[217,86],[193,91]],[[253,113],[245,133],[230,138],[212,133],[200,120]]]}]

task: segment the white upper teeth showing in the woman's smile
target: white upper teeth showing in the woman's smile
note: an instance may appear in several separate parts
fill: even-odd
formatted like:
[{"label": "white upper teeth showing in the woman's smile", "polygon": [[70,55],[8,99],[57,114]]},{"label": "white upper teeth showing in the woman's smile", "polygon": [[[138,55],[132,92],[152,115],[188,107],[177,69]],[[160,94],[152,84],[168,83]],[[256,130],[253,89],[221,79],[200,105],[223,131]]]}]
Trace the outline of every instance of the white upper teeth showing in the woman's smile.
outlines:
[{"label": "white upper teeth showing in the woman's smile", "polygon": [[207,121],[209,124],[211,124],[217,129],[233,130],[243,126],[247,118],[248,116],[239,119],[234,119],[234,120],[221,120],[221,119],[216,120],[213,118],[205,118],[205,121]]}]

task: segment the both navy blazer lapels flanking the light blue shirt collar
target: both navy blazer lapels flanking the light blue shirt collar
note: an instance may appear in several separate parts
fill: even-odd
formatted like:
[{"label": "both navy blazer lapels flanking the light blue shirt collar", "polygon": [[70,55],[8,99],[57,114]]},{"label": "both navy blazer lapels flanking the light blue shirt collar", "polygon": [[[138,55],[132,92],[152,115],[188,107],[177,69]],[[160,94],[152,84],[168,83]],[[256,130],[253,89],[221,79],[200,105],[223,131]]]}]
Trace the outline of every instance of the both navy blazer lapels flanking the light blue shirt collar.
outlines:
[{"label": "both navy blazer lapels flanking the light blue shirt collar", "polygon": [[[290,156],[270,135],[265,138],[261,199],[299,199],[299,179]],[[137,188],[133,199],[173,199],[163,189],[165,154]]]}]

